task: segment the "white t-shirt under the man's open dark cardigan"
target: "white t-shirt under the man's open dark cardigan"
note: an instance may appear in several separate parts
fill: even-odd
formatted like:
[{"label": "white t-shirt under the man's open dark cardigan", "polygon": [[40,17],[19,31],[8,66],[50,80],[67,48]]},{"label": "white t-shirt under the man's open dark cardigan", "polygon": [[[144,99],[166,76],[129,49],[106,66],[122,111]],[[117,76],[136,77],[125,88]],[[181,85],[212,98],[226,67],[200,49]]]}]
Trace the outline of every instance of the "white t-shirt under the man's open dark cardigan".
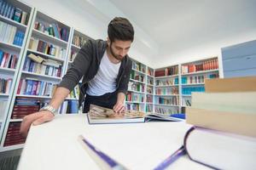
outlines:
[{"label": "white t-shirt under the man's open dark cardigan", "polygon": [[106,50],[96,76],[88,82],[86,93],[92,96],[100,96],[114,92],[116,90],[116,79],[119,74],[120,65],[121,62],[113,64],[108,59]]}]

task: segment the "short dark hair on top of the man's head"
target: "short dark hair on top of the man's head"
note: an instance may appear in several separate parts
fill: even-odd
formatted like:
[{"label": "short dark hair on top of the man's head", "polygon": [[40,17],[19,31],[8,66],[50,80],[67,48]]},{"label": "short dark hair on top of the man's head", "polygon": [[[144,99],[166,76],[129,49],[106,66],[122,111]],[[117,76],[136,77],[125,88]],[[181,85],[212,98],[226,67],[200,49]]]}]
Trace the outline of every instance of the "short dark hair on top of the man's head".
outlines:
[{"label": "short dark hair on top of the man's head", "polygon": [[133,42],[134,30],[130,21],[122,17],[111,20],[108,24],[108,38],[111,42],[114,40]]}]

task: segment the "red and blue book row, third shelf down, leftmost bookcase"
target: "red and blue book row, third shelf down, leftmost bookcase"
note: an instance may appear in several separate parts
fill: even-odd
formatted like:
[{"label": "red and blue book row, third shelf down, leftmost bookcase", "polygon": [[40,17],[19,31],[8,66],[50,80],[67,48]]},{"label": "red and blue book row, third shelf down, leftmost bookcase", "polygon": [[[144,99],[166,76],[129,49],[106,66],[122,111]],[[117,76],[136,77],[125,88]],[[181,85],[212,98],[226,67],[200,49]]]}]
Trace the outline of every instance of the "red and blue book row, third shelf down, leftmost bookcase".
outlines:
[{"label": "red and blue book row, third shelf down, leftmost bookcase", "polygon": [[0,67],[15,69],[18,57],[16,54],[9,54],[0,49]]}]

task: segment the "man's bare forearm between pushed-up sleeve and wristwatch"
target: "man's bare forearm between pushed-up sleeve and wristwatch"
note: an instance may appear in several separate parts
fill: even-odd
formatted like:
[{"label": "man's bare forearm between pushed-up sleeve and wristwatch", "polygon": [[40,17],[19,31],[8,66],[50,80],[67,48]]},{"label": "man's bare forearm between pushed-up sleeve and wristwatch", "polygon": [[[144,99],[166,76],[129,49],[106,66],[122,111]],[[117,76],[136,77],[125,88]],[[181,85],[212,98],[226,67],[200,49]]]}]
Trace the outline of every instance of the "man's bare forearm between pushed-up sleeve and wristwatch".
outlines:
[{"label": "man's bare forearm between pushed-up sleeve and wristwatch", "polygon": [[58,109],[64,99],[67,98],[67,95],[70,93],[69,89],[67,88],[56,88],[55,94],[53,95],[52,99],[49,102],[49,105],[53,106],[55,109]]}]

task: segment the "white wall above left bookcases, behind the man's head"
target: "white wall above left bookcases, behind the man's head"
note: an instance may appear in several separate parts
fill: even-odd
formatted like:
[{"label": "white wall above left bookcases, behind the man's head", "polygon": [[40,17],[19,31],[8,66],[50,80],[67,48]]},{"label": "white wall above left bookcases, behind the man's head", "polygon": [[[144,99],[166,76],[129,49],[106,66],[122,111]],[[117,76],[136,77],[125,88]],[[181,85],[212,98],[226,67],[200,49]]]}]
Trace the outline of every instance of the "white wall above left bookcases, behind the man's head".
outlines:
[{"label": "white wall above left bookcases, behind the man's head", "polygon": [[[124,16],[108,0],[20,0],[20,2],[38,8],[44,14],[60,20],[68,26],[89,37],[106,39],[108,37],[108,23],[114,16]],[[129,55],[143,64],[152,66],[154,56],[158,53],[154,43],[132,20],[135,29],[135,40]]]}]

